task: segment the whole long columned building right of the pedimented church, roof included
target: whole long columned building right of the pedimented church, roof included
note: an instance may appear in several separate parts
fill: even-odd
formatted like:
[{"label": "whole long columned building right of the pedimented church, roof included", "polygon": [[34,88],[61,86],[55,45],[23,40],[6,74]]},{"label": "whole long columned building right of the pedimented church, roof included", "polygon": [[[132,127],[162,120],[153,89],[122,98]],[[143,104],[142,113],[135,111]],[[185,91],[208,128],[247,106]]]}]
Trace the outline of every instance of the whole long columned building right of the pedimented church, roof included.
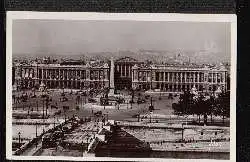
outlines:
[{"label": "whole long columned building right of the pedimented church, roof included", "polygon": [[194,65],[134,65],[132,87],[134,89],[160,89],[166,92],[182,92],[195,87],[198,91],[227,90],[225,67]]}]

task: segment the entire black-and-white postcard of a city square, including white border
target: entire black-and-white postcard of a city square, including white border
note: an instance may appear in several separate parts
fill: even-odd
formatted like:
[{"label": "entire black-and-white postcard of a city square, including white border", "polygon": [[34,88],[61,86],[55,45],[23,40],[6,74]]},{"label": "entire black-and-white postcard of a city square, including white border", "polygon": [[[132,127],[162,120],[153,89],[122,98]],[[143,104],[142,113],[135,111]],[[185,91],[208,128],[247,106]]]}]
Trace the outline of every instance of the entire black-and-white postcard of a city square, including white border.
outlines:
[{"label": "entire black-and-white postcard of a city square, including white border", "polygon": [[235,157],[235,16],[12,13],[10,159]]}]

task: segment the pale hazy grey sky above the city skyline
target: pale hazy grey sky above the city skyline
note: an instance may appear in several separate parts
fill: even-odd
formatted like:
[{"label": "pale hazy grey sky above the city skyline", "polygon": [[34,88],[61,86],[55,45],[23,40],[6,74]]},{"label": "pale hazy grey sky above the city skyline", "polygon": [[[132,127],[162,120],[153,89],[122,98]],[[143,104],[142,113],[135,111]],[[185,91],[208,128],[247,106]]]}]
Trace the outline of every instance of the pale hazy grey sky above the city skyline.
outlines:
[{"label": "pale hazy grey sky above the city skyline", "polygon": [[230,24],[14,20],[13,55],[78,55],[117,51],[207,51],[230,56]]}]

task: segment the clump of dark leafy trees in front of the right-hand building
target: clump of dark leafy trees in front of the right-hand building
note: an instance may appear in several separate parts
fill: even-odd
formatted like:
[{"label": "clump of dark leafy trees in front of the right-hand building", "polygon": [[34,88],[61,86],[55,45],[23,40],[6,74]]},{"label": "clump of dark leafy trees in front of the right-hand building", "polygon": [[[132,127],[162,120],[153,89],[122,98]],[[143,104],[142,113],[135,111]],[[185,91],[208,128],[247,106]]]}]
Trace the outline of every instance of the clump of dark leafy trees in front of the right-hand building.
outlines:
[{"label": "clump of dark leafy trees in front of the right-hand building", "polygon": [[177,115],[197,115],[203,116],[204,124],[207,124],[208,116],[213,121],[213,116],[230,117],[230,91],[222,92],[218,96],[205,96],[199,94],[195,96],[190,91],[185,91],[180,95],[178,103],[172,105],[174,113]]}]

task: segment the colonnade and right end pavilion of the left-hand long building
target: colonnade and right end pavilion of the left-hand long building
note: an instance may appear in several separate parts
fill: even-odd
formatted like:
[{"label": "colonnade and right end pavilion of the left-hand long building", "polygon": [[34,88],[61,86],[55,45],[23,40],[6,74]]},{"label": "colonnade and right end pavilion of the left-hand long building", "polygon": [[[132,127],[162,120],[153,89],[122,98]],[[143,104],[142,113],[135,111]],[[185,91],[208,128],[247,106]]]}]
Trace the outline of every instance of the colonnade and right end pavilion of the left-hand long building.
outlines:
[{"label": "colonnade and right end pavilion of the left-hand long building", "polygon": [[108,69],[39,69],[39,81],[48,88],[104,88],[108,86]]}]

